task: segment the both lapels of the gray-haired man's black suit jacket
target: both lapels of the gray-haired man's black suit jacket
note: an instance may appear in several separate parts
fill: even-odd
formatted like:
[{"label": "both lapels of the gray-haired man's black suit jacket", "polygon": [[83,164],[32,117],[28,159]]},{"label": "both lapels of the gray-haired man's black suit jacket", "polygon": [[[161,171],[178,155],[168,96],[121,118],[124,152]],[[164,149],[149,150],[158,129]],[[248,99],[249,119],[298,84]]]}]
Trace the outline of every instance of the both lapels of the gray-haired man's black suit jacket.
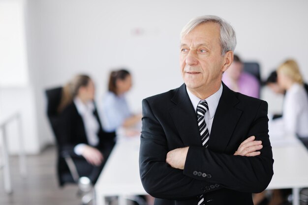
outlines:
[{"label": "both lapels of the gray-haired man's black suit jacket", "polygon": [[[234,92],[223,83],[222,94],[216,109],[212,124],[209,148],[213,151],[223,152],[233,134],[242,111],[235,108],[239,103]],[[170,109],[170,115],[179,131],[185,146],[201,146],[201,138],[197,123],[196,112],[183,84],[171,99],[176,105]]]}]

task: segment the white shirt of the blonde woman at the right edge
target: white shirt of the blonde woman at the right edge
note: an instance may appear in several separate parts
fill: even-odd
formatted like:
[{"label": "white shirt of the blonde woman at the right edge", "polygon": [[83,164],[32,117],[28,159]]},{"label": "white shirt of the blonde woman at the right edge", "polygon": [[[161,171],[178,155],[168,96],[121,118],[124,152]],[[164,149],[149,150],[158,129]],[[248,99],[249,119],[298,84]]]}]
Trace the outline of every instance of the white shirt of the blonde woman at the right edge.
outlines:
[{"label": "white shirt of the blonde woman at the right edge", "polygon": [[308,137],[308,96],[304,86],[296,83],[286,91],[282,119],[288,134]]}]

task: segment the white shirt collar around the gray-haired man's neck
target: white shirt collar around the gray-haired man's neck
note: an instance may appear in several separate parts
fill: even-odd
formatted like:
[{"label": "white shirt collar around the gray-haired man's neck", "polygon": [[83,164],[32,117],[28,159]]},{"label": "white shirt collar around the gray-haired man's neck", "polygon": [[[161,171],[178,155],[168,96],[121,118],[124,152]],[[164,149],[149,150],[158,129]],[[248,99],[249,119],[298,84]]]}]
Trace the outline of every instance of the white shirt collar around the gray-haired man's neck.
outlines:
[{"label": "white shirt collar around the gray-haired man's neck", "polygon": [[195,96],[194,94],[192,94],[189,91],[189,89],[187,89],[187,87],[186,87],[186,90],[187,90],[189,99],[190,99],[192,106],[193,106],[195,111],[197,110],[197,106],[198,106],[199,102],[201,100],[206,100],[207,103],[208,103],[208,106],[209,106],[208,112],[210,113],[210,118],[213,118],[215,116],[216,109],[217,109],[217,106],[218,106],[218,103],[219,103],[219,99],[220,99],[221,94],[222,94],[222,84],[220,85],[220,88],[213,95],[209,96],[206,99],[200,99],[199,97]]}]

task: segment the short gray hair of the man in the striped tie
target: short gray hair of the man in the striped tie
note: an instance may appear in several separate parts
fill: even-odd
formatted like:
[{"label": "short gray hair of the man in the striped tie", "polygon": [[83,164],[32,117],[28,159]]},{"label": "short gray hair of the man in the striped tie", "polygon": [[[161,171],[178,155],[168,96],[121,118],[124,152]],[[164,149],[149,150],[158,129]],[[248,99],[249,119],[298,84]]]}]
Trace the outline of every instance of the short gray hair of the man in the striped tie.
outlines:
[{"label": "short gray hair of the man in the striped tie", "polygon": [[219,41],[221,45],[221,54],[225,55],[228,51],[234,51],[236,46],[235,31],[228,22],[218,16],[204,15],[191,19],[182,29],[181,38],[187,35],[192,29],[194,29],[198,25],[207,22],[214,22],[220,26]]}]

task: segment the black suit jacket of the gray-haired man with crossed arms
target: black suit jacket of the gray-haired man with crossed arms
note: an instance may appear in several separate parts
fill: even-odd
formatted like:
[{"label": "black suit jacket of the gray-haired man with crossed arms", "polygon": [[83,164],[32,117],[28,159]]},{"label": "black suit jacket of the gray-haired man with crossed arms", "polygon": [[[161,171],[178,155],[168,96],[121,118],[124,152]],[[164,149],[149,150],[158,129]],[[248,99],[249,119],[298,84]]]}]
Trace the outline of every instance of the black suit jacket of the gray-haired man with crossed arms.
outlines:
[{"label": "black suit jacket of the gray-haired man with crossed arms", "polygon": [[[273,176],[267,103],[233,92],[223,84],[208,148],[202,146],[196,112],[180,88],[142,102],[140,177],[155,205],[197,205],[204,194],[208,205],[253,205],[251,193],[263,191]],[[261,155],[234,156],[254,135]],[[168,151],[189,146],[184,170],[166,162]]]}]

